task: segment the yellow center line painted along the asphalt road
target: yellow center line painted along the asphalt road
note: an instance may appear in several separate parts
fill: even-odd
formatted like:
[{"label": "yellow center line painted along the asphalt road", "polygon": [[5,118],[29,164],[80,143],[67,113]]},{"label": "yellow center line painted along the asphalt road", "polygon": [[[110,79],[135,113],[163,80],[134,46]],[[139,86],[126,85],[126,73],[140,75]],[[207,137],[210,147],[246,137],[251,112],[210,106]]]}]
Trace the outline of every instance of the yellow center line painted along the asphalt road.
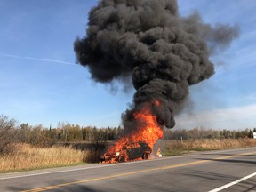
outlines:
[{"label": "yellow center line painted along the asphalt road", "polygon": [[45,191],[45,190],[51,190],[51,189],[54,189],[54,188],[60,188],[60,187],[68,186],[68,185],[91,182],[91,181],[94,181],[94,180],[108,180],[108,179],[112,179],[112,178],[118,178],[118,177],[122,177],[122,176],[138,174],[138,173],[141,173],[141,172],[153,172],[153,171],[158,171],[158,170],[167,170],[167,169],[173,169],[173,168],[177,168],[177,167],[188,166],[188,165],[192,165],[192,164],[203,164],[203,163],[206,163],[206,162],[218,161],[218,160],[221,160],[221,159],[228,159],[228,158],[233,158],[233,157],[237,157],[237,156],[247,156],[247,155],[252,155],[252,154],[255,154],[255,153],[244,153],[244,154],[241,154],[241,155],[234,155],[234,156],[220,156],[218,158],[209,159],[209,160],[200,160],[200,161],[190,162],[190,163],[186,163],[186,164],[174,164],[174,165],[169,165],[169,166],[156,167],[156,168],[152,168],[152,169],[140,170],[140,171],[136,171],[136,172],[125,172],[125,173],[121,173],[121,174],[109,175],[109,176],[106,176],[106,177],[93,178],[93,179],[88,179],[88,180],[78,180],[78,181],[74,181],[74,182],[67,182],[67,183],[62,183],[62,184],[59,184],[59,185],[52,185],[52,186],[43,187],[43,188],[34,188],[34,189],[29,189],[29,190],[23,190],[21,192]]}]

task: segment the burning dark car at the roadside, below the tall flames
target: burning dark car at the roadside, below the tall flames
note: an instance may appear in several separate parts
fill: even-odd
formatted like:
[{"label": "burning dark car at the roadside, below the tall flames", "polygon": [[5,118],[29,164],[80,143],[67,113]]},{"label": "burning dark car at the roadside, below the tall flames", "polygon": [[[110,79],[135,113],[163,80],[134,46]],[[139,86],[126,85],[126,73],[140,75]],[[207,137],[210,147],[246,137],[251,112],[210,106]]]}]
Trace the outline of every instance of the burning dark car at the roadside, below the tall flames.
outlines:
[{"label": "burning dark car at the roadside, below the tall flames", "polygon": [[100,163],[126,162],[140,158],[147,160],[151,153],[152,148],[150,148],[147,143],[142,141],[129,142],[125,144],[120,151],[116,151],[114,154],[106,153],[100,156]]}]

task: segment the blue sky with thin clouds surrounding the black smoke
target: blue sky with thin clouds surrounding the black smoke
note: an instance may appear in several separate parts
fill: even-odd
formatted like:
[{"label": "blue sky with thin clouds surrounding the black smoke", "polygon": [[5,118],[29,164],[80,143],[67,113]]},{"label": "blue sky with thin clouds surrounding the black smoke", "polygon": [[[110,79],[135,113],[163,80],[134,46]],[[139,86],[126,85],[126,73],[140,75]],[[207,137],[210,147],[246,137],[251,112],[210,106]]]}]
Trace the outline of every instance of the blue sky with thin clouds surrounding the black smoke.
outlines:
[{"label": "blue sky with thin clouds surrounding the black smoke", "polygon": [[[0,0],[0,114],[46,127],[120,124],[134,90],[110,92],[109,84],[94,83],[87,69],[75,63],[73,42],[85,35],[88,12],[97,2]],[[193,103],[176,116],[174,128],[256,127],[256,2],[178,4],[180,15],[197,10],[213,26],[237,24],[240,36],[212,56],[215,75],[190,87]]]}]

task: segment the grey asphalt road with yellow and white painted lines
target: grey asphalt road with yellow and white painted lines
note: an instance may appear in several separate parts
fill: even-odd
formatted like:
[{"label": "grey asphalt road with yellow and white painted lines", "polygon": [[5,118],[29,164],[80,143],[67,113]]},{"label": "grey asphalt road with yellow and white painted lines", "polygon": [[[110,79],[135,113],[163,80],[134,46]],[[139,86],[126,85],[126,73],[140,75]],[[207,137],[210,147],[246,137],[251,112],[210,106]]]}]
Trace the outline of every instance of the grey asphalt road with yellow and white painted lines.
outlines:
[{"label": "grey asphalt road with yellow and white painted lines", "polygon": [[0,174],[0,191],[256,191],[256,148]]}]

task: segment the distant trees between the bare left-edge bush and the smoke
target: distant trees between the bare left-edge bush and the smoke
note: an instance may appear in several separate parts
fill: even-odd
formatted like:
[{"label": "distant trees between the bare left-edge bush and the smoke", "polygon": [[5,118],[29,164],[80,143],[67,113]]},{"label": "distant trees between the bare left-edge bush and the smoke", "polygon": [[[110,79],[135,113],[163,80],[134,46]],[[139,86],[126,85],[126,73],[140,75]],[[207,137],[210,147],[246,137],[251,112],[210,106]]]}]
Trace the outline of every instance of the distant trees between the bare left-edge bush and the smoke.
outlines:
[{"label": "distant trees between the bare left-edge bush and the smoke", "polygon": [[45,128],[42,124],[20,124],[16,128],[19,140],[22,142],[40,144],[41,142],[75,142],[95,140],[116,140],[120,133],[120,127],[97,128],[95,126],[80,126],[78,124],[59,123],[56,128]]}]

